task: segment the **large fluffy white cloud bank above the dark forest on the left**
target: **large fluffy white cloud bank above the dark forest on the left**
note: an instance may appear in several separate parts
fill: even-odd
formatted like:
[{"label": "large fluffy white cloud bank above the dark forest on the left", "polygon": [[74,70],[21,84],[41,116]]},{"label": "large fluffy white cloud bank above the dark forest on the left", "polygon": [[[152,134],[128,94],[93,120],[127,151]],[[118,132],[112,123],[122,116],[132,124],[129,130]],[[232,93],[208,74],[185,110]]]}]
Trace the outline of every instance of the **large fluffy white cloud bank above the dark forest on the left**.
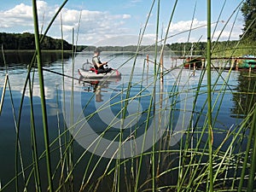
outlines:
[{"label": "large fluffy white cloud bank above the dark forest on the left", "polygon": [[[44,24],[44,28],[48,25],[49,20],[55,15],[58,7],[52,7],[44,1],[37,1],[39,26]],[[81,15],[81,22],[79,18]],[[76,9],[61,9],[61,17],[59,16],[54,25],[51,26],[48,35],[52,37],[61,36],[61,21],[62,29],[68,42],[72,42],[72,30],[79,27],[79,37],[82,41],[79,44],[94,44],[92,41],[101,40],[108,37],[124,34],[130,29],[124,27],[125,20],[131,18],[131,15],[111,15],[104,11],[76,10]],[[33,32],[32,6],[20,3],[15,8],[0,11],[0,30],[2,32]],[[26,26],[22,29],[18,26]],[[59,37],[60,38],[60,37]]]}]

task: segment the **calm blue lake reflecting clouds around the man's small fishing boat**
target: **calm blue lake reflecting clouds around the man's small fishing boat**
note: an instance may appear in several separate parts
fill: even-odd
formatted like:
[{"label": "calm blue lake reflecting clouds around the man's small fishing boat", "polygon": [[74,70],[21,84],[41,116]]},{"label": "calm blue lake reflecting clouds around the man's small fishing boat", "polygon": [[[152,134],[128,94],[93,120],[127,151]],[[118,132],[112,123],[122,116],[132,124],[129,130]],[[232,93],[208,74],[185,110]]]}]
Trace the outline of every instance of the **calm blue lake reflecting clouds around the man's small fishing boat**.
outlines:
[{"label": "calm blue lake reflecting clouds around the man's small fishing boat", "polygon": [[[154,176],[158,176],[156,186],[162,189],[172,189],[177,183],[193,185],[177,174],[182,172],[182,163],[207,162],[205,71],[179,67],[183,61],[177,61],[178,67],[173,68],[172,55],[166,53],[160,79],[154,75],[160,71],[159,65],[154,65],[154,54],[149,54],[147,61],[148,53],[135,57],[132,53],[102,52],[101,60],[118,69],[121,79],[81,79],[78,68],[87,60],[90,62],[91,55],[82,52],[72,58],[66,54],[63,59],[58,54],[44,55],[54,189],[151,189]],[[6,73],[9,74],[0,116],[3,191],[14,191],[15,184],[32,191],[38,182],[43,191],[48,186],[37,67],[32,67],[35,73],[29,75],[32,91],[27,86],[23,94],[31,59],[31,54],[9,54],[7,67],[3,62],[0,64],[0,96]],[[255,79],[254,72],[212,70],[213,148],[219,156],[230,150],[233,158],[246,148],[248,130],[241,130],[241,123],[256,102]],[[38,180],[35,148],[39,159]],[[217,157],[215,160],[219,162]],[[236,175],[239,169],[234,165],[224,166],[230,169],[226,177],[239,177]],[[199,177],[203,169],[196,169],[193,177]],[[17,174],[19,177],[15,179]],[[188,172],[183,174],[189,179]],[[236,189],[238,181],[227,178],[221,186],[227,184]],[[200,185],[204,189],[205,183]]]}]

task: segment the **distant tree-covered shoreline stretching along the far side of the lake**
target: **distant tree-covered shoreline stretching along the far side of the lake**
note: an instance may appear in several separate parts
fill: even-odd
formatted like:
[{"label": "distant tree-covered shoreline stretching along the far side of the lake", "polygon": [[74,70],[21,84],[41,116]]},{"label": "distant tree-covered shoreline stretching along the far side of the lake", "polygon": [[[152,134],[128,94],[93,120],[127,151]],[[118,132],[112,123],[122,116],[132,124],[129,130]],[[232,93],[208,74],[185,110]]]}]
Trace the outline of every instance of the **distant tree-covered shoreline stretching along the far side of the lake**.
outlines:
[{"label": "distant tree-covered shoreline stretching along the far side of the lake", "polygon": [[[0,45],[4,50],[27,50],[35,49],[34,35],[32,33],[6,33],[0,32]],[[238,46],[239,45],[239,46]],[[67,41],[61,39],[55,39],[45,37],[41,44],[41,49],[45,50],[72,50],[72,44],[68,44]],[[161,45],[158,46],[158,51],[161,49]],[[212,55],[255,55],[255,45],[253,42],[243,43],[238,41],[224,41],[224,42],[212,42]],[[96,46],[78,45],[76,51],[93,51]],[[137,51],[137,45],[129,46],[104,46],[99,47],[102,51]],[[139,51],[155,51],[154,45],[142,45],[138,49]],[[166,44],[164,47],[166,52],[170,52],[174,55],[206,55],[207,43],[174,43]]]}]

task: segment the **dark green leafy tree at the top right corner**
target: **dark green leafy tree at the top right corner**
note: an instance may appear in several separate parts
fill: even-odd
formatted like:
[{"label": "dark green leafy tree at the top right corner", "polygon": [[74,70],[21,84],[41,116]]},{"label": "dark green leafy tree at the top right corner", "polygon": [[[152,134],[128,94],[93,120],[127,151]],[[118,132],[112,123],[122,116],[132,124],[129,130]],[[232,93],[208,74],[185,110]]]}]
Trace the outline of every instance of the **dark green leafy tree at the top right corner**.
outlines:
[{"label": "dark green leafy tree at the top right corner", "polygon": [[241,37],[248,41],[256,40],[256,0],[246,0],[241,7],[244,28]]}]

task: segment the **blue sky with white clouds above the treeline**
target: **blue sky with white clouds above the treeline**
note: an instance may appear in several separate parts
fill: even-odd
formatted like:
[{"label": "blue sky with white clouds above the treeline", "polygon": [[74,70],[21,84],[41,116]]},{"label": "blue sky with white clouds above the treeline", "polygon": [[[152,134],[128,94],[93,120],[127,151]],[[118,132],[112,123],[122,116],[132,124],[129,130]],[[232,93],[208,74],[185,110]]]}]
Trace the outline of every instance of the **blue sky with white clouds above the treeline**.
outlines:
[{"label": "blue sky with white clouds above the treeline", "polygon": [[[63,1],[37,1],[39,28],[44,29]],[[242,0],[212,0],[213,40],[238,39],[243,17],[236,9]],[[160,0],[159,33],[165,36],[175,0]],[[153,7],[149,15],[150,8]],[[72,43],[72,30],[77,44],[128,45],[137,44],[138,34],[146,24],[143,44],[154,44],[156,38],[158,1],[154,0],[69,0],[55,20],[48,35]],[[81,15],[81,20],[79,18]],[[149,15],[149,16],[148,16]],[[193,21],[192,21],[193,20]],[[218,23],[216,23],[218,20]],[[207,0],[177,0],[177,7],[168,30],[167,43],[206,41]],[[32,1],[4,1],[0,7],[0,32],[33,32]],[[189,28],[198,28],[190,33]],[[215,28],[216,27],[216,28]],[[181,33],[177,35],[178,33]],[[160,38],[160,37],[159,37]]]}]

